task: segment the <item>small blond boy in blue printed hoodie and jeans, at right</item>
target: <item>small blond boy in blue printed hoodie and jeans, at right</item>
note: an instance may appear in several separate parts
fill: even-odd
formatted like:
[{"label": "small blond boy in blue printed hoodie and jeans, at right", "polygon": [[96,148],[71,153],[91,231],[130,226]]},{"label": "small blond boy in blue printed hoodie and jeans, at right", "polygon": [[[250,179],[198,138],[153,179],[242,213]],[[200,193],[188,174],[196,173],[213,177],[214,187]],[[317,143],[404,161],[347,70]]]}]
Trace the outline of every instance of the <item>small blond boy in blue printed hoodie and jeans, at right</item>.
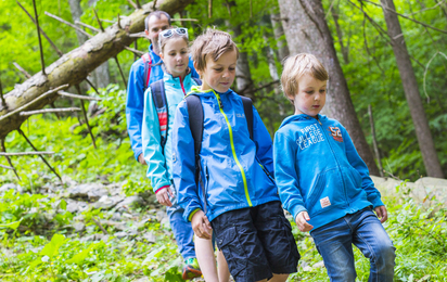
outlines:
[{"label": "small blond boy in blue printed hoodie and jeans, at right", "polygon": [[381,195],[346,129],[319,115],[327,81],[311,54],[284,63],[281,85],[295,115],[274,136],[280,197],[299,230],[310,231],[331,281],[355,281],[352,244],[370,259],[369,281],[393,281],[395,247],[381,225],[387,219]]}]

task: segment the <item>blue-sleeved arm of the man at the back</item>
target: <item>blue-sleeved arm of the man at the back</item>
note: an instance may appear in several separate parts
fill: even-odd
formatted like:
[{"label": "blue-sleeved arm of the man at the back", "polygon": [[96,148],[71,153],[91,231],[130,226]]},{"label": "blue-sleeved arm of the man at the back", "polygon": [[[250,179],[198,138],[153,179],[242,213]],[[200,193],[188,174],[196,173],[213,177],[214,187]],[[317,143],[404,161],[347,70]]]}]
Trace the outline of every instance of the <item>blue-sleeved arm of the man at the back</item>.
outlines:
[{"label": "blue-sleeved arm of the man at the back", "polygon": [[143,152],[141,146],[141,126],[144,106],[144,64],[135,62],[130,68],[127,85],[126,119],[135,158]]}]

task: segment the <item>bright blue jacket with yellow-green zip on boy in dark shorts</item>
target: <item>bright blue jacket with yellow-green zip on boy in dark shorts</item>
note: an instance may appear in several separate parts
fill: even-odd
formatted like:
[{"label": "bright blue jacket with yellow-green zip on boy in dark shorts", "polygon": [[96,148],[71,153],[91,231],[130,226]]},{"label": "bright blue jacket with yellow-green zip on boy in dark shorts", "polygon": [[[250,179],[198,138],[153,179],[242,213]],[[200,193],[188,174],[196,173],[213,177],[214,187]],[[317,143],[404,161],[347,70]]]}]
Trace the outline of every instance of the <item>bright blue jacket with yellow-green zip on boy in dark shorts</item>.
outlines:
[{"label": "bright blue jacket with yellow-green zip on boy in dark shorts", "polygon": [[241,98],[226,93],[201,92],[193,88],[203,106],[204,127],[200,152],[206,198],[194,181],[194,140],[189,126],[187,103],[177,107],[174,121],[174,182],[183,217],[192,215],[206,201],[208,220],[229,210],[279,201],[272,176],[272,143],[257,111],[253,107],[253,140],[250,139]]}]

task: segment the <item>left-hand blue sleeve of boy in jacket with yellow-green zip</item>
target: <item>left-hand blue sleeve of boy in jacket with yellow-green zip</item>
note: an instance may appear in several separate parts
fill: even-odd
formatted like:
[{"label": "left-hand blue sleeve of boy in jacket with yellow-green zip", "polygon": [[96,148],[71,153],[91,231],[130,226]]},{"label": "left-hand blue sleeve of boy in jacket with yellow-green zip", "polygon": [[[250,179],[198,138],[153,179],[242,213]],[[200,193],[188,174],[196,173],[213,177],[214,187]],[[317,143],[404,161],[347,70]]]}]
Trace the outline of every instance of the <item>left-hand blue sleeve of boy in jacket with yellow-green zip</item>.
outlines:
[{"label": "left-hand blue sleeve of boy in jacket with yellow-green zip", "polygon": [[173,128],[173,178],[178,191],[178,203],[184,209],[183,217],[191,221],[192,216],[202,209],[195,184],[194,140],[191,134],[187,103],[183,100],[177,107]]}]

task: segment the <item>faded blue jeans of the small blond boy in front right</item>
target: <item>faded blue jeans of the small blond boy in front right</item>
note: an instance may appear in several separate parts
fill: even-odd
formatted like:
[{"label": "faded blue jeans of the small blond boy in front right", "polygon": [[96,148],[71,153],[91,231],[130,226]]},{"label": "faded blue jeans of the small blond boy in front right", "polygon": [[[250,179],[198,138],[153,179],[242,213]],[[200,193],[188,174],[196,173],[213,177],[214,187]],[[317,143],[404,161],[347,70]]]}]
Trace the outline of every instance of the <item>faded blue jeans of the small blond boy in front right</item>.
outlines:
[{"label": "faded blue jeans of the small blond boy in front right", "polygon": [[353,244],[370,260],[369,282],[393,281],[396,248],[371,208],[346,215],[310,235],[323,257],[331,282],[356,280]]}]

